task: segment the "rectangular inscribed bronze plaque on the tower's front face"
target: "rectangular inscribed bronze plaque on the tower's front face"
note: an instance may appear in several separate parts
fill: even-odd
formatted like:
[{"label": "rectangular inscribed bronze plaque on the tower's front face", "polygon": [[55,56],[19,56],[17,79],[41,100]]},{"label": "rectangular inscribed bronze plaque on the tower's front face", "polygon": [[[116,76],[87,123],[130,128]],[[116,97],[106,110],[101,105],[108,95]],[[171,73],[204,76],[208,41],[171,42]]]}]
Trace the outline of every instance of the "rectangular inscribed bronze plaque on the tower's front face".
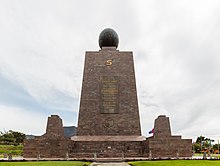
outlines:
[{"label": "rectangular inscribed bronze plaque on the tower's front face", "polygon": [[118,113],[118,77],[102,76],[100,85],[100,112]]}]

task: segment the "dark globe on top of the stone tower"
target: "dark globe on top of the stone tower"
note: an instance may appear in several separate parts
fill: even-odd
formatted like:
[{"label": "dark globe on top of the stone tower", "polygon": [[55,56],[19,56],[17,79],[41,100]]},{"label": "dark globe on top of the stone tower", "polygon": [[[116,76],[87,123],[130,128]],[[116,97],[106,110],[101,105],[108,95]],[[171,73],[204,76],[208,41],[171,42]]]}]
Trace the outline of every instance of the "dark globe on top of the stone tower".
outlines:
[{"label": "dark globe on top of the stone tower", "polygon": [[99,35],[99,47],[118,47],[118,34],[111,28],[104,29]]}]

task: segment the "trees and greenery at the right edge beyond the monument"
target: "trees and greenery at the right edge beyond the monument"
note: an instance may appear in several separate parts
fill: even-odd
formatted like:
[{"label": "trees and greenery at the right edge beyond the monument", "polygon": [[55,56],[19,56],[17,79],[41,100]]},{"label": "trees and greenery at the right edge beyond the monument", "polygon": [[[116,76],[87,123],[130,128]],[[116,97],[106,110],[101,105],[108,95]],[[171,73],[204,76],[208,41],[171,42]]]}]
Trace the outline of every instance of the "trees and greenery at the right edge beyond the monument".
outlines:
[{"label": "trees and greenery at the right edge beyond the monument", "polygon": [[199,136],[196,142],[193,142],[192,148],[196,153],[210,152],[219,153],[219,143],[213,144],[214,140],[211,138],[206,138],[204,136]]}]

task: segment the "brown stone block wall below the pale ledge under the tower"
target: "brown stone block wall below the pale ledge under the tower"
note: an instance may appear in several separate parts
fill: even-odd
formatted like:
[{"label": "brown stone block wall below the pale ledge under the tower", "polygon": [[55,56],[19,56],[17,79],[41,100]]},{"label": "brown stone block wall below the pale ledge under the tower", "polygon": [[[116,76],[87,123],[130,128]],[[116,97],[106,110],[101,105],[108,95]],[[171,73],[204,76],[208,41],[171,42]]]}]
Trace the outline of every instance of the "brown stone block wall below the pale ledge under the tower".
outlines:
[{"label": "brown stone block wall below the pale ledge under the tower", "polygon": [[124,158],[143,156],[140,141],[77,141],[71,142],[71,158]]}]

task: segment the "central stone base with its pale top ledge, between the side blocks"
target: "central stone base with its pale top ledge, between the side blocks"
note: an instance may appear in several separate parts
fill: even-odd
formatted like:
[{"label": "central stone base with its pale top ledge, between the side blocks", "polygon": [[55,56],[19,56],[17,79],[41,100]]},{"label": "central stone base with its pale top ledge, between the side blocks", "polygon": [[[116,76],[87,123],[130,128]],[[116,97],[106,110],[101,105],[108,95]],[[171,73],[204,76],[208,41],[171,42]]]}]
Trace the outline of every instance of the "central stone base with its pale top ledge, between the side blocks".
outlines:
[{"label": "central stone base with its pale top ledge, between the side blocks", "polygon": [[143,156],[143,136],[73,136],[72,158],[125,158]]}]

